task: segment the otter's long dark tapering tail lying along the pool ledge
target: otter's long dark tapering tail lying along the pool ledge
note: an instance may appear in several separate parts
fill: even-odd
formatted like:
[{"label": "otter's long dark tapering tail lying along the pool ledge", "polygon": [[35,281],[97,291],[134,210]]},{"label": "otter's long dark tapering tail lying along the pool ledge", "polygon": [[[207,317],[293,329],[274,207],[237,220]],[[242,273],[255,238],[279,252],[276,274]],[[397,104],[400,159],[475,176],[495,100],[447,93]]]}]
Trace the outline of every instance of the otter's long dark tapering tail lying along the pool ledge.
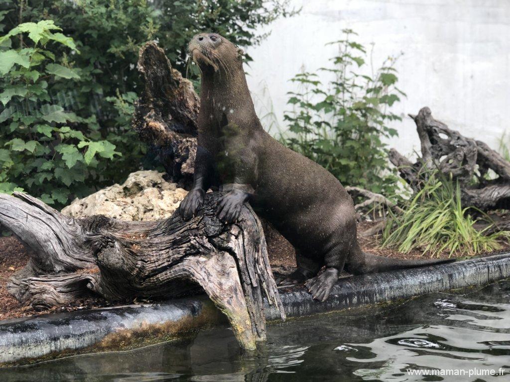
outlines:
[{"label": "otter's long dark tapering tail lying along the pool ledge", "polygon": [[364,275],[368,273],[384,272],[387,270],[416,268],[420,266],[450,263],[455,259],[430,259],[430,260],[400,260],[389,257],[369,255],[363,252],[358,245],[352,251],[345,263],[345,270],[352,275]]}]

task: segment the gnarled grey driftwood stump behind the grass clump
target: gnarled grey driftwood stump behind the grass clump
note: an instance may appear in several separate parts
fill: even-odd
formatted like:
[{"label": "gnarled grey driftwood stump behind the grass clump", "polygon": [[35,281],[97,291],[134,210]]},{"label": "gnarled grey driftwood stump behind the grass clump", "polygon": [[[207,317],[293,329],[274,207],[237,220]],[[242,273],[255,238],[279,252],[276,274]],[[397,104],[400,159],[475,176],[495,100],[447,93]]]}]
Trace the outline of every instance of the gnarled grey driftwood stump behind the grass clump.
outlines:
[{"label": "gnarled grey driftwood stump behind the grass clump", "polygon": [[466,138],[432,118],[428,107],[410,117],[420,137],[421,157],[412,163],[392,149],[390,161],[415,192],[429,170],[439,170],[458,181],[464,207],[490,211],[510,206],[510,162],[487,144]]}]

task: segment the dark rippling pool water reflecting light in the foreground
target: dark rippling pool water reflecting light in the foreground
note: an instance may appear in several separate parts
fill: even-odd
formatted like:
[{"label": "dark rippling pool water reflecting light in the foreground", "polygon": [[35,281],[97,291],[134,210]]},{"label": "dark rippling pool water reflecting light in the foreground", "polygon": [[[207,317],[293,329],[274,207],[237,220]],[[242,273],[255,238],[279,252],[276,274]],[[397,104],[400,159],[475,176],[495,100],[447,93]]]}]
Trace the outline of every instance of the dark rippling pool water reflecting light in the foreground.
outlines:
[{"label": "dark rippling pool water reflecting light in the foreground", "polygon": [[256,356],[241,356],[223,328],[132,351],[2,369],[0,380],[506,381],[510,280],[270,325]]}]

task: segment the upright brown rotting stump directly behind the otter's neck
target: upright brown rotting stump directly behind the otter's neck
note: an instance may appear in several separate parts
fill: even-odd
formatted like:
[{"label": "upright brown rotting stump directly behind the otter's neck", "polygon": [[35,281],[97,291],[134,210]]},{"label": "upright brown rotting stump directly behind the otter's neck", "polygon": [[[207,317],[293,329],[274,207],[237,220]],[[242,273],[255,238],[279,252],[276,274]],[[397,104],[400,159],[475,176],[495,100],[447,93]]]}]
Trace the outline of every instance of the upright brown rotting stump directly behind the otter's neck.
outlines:
[{"label": "upright brown rotting stump directly behind the otter's neck", "polygon": [[137,68],[145,89],[135,103],[133,127],[157,153],[172,182],[186,186],[195,167],[200,99],[155,42],[142,46]]}]

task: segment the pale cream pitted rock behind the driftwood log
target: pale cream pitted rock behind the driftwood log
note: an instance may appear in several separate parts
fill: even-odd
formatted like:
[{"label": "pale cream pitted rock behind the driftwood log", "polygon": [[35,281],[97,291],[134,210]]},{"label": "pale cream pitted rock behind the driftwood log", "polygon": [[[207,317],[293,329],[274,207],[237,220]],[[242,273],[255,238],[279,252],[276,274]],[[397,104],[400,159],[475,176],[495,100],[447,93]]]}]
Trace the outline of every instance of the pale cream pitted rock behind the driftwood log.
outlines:
[{"label": "pale cream pitted rock behind the driftwood log", "polygon": [[72,217],[106,215],[124,221],[166,219],[188,193],[163,179],[164,173],[137,171],[123,184],[114,184],[83,199],[75,199],[62,210]]}]

